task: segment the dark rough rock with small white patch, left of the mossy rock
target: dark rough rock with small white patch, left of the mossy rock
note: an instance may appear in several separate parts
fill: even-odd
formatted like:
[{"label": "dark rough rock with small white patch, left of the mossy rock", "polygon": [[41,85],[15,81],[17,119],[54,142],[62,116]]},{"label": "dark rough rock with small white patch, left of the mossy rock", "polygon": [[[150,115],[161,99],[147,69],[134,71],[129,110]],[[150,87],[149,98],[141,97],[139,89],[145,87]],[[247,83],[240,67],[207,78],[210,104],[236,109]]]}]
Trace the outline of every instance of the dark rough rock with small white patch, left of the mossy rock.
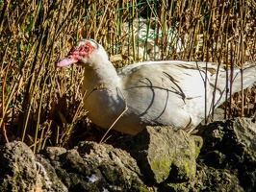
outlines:
[{"label": "dark rough rock with small white patch, left of the mossy rock", "polygon": [[73,150],[48,147],[41,154],[50,159],[59,179],[70,191],[146,188],[135,159],[111,145],[85,141]]}]

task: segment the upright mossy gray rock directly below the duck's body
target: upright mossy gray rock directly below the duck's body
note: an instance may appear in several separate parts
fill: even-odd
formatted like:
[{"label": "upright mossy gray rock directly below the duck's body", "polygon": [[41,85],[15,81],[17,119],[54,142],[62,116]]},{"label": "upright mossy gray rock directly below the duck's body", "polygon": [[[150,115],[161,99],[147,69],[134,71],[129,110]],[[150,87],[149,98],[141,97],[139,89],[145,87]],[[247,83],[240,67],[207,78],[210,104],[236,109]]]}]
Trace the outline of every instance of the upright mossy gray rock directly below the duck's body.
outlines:
[{"label": "upright mossy gray rock directly below the duck's body", "polygon": [[120,139],[116,146],[137,159],[144,180],[152,185],[193,179],[201,141],[171,127],[146,127],[134,137]]}]

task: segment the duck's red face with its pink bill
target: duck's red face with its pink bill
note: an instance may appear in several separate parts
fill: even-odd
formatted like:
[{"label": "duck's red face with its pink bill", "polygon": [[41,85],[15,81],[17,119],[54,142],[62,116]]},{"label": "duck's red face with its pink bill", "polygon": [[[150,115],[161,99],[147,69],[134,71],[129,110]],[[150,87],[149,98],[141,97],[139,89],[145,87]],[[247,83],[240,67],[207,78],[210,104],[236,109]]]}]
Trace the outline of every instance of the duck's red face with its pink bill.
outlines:
[{"label": "duck's red face with its pink bill", "polygon": [[83,58],[88,57],[94,49],[95,47],[90,44],[90,41],[81,40],[72,48],[64,60],[57,63],[57,66],[64,67],[78,63]]}]

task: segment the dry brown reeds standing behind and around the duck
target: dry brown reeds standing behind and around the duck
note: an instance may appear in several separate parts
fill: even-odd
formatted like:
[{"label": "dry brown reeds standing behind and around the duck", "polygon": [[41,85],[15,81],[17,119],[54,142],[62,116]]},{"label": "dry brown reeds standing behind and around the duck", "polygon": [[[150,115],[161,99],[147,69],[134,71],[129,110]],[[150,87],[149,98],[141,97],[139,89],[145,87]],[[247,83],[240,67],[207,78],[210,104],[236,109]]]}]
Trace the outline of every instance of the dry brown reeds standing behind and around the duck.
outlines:
[{"label": "dry brown reeds standing behind and around the duck", "polygon": [[[55,67],[81,37],[96,39],[118,56],[116,67],[148,60],[138,56],[138,45],[148,50],[149,41],[160,47],[151,49],[151,60],[161,52],[158,59],[232,68],[256,57],[254,1],[2,0],[0,15],[0,141],[20,139],[34,152],[95,139],[81,108],[82,69]],[[143,39],[135,37],[136,19],[147,26]],[[244,94],[227,103],[229,115],[255,114],[255,89]]]}]

